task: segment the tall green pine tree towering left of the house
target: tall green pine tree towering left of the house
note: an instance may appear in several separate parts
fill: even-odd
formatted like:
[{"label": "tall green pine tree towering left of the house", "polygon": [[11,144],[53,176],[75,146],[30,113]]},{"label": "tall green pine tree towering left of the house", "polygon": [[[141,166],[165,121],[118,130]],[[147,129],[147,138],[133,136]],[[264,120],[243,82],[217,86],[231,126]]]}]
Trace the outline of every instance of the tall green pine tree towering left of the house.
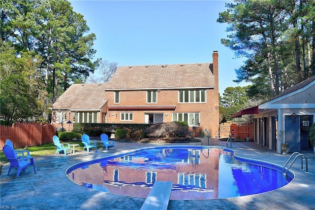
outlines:
[{"label": "tall green pine tree towering left of the house", "polygon": [[89,34],[83,16],[67,0],[0,2],[0,45],[11,43],[18,54],[31,52],[42,58],[36,70],[44,83],[42,112],[47,118],[49,104],[97,68],[95,34]]}]

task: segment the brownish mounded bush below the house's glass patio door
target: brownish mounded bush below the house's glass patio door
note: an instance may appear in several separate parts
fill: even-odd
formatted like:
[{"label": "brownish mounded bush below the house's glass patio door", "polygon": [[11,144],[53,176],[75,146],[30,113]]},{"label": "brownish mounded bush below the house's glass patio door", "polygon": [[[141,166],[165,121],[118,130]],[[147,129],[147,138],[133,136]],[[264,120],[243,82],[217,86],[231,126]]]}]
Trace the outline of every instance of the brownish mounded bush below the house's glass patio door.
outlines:
[{"label": "brownish mounded bush below the house's glass patio door", "polygon": [[182,121],[157,123],[151,125],[144,130],[144,134],[147,137],[160,138],[163,136],[169,136],[170,133],[177,137],[186,137],[188,134],[188,124]]}]

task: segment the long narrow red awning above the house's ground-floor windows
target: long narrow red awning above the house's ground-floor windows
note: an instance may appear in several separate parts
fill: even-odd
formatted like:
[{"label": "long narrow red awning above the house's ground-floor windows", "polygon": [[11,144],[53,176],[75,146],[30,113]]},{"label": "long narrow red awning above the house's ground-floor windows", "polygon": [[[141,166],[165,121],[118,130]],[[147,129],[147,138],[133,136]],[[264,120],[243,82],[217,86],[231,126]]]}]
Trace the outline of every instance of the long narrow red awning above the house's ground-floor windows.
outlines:
[{"label": "long narrow red awning above the house's ground-floor windows", "polygon": [[139,110],[172,111],[175,109],[176,109],[176,105],[108,106],[109,111],[139,111]]}]

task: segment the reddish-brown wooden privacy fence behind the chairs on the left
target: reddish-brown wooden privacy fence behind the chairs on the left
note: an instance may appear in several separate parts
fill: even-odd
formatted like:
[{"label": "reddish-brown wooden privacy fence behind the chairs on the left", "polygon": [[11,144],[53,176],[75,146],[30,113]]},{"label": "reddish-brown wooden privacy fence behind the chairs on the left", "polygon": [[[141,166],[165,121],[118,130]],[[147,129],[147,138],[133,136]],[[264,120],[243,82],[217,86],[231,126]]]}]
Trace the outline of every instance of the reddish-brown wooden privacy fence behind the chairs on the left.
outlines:
[{"label": "reddish-brown wooden privacy fence behind the chairs on the left", "polygon": [[11,140],[14,148],[38,146],[52,142],[56,134],[54,125],[47,123],[16,123],[12,126],[0,126],[0,149],[7,139]]}]

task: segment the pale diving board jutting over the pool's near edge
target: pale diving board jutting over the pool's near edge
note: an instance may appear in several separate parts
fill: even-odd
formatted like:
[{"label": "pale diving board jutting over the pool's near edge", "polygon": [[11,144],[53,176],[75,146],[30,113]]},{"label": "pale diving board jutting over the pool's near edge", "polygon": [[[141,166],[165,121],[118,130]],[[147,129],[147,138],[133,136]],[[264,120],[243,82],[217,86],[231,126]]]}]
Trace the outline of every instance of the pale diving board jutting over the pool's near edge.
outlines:
[{"label": "pale diving board jutting over the pool's near edge", "polygon": [[167,210],[172,181],[156,181],[140,210]]}]

